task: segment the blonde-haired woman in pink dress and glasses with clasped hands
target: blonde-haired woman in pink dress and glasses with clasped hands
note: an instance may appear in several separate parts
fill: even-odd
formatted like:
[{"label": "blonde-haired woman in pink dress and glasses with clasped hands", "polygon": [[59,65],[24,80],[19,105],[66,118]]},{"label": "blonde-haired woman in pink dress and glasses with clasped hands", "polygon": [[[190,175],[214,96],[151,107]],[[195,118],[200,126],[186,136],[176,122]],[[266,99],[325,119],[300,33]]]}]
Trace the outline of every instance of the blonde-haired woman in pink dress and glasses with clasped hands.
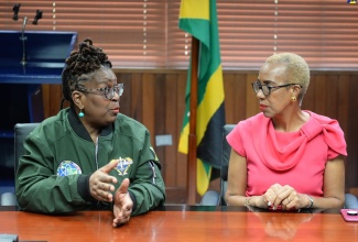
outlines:
[{"label": "blonde-haired woman in pink dress and glasses with clasped hands", "polygon": [[308,65],[296,54],[274,54],[262,65],[252,84],[261,112],[227,136],[229,206],[291,210],[344,205],[344,132],[336,120],[301,109],[308,85]]}]

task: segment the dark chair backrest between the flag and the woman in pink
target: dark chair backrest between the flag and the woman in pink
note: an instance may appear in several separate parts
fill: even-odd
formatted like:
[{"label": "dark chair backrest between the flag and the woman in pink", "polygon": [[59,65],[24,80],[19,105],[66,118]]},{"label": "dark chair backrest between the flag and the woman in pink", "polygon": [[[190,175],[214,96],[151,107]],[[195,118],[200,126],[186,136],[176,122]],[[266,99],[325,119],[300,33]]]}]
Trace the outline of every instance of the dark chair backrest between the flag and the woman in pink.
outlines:
[{"label": "dark chair backrest between the flag and the woman in pink", "polygon": [[223,136],[221,136],[221,168],[220,168],[220,205],[226,206],[225,193],[227,188],[228,180],[228,168],[229,168],[229,158],[231,153],[231,146],[226,141],[226,136],[232,131],[236,124],[225,124],[223,127]]}]

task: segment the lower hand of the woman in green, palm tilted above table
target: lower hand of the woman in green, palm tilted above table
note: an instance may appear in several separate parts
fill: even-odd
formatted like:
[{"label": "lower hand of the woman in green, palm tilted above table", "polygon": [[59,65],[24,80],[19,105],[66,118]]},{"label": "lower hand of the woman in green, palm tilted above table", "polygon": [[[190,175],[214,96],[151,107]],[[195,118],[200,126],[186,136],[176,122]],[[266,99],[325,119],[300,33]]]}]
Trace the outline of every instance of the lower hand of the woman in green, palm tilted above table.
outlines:
[{"label": "lower hand of the woman in green, palm tilted above table", "polygon": [[129,196],[128,187],[129,179],[126,178],[115,194],[113,227],[128,222],[132,215],[133,201]]}]

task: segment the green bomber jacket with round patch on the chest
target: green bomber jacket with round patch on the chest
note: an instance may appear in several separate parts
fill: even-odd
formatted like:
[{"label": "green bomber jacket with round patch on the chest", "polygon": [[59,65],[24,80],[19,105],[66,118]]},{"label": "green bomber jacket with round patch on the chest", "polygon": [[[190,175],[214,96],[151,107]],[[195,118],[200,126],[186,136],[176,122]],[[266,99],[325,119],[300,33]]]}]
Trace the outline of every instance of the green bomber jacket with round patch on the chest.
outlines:
[{"label": "green bomber jacket with round patch on the chest", "polygon": [[15,191],[25,211],[62,213],[78,210],[111,209],[89,193],[89,176],[112,160],[120,163],[110,175],[116,189],[130,179],[133,216],[164,204],[165,187],[161,165],[150,143],[150,134],[135,120],[118,114],[116,122],[101,131],[97,145],[76,113],[63,109],[44,120],[24,142],[19,161]]}]

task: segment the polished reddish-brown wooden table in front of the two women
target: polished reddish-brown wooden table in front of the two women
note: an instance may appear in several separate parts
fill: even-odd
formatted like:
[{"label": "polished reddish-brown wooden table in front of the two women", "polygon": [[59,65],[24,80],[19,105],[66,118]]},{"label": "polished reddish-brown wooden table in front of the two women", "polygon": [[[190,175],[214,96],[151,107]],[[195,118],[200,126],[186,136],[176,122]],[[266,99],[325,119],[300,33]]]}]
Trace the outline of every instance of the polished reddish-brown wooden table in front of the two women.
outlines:
[{"label": "polished reddish-brown wooden table in front of the two women", "polygon": [[305,241],[352,242],[358,222],[337,212],[246,211],[245,208],[166,206],[112,228],[110,211],[45,216],[0,211],[0,233],[20,241]]}]

